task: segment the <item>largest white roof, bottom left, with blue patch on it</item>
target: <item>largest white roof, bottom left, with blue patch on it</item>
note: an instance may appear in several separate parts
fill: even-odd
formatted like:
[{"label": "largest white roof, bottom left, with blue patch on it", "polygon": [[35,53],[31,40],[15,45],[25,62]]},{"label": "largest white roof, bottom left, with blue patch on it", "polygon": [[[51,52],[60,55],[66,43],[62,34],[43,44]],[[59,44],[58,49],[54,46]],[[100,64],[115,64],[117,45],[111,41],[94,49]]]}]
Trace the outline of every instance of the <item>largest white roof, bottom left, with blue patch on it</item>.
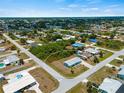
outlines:
[{"label": "largest white roof, bottom left, with blue patch on it", "polygon": [[[19,75],[22,77],[17,77]],[[3,85],[3,90],[4,93],[14,93],[34,82],[36,82],[36,80],[28,72],[22,71],[11,75],[8,84]]]}]

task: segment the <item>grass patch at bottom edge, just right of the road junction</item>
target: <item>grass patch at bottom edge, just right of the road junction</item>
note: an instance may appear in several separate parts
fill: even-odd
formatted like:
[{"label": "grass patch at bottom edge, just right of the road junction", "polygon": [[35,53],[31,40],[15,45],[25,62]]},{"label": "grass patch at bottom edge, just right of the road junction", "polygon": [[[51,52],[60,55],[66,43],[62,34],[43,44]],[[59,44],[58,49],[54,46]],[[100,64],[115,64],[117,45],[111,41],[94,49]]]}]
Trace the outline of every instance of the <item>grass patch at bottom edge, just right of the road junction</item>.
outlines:
[{"label": "grass patch at bottom edge, just right of the road junction", "polygon": [[79,83],[66,93],[88,93],[86,84]]}]

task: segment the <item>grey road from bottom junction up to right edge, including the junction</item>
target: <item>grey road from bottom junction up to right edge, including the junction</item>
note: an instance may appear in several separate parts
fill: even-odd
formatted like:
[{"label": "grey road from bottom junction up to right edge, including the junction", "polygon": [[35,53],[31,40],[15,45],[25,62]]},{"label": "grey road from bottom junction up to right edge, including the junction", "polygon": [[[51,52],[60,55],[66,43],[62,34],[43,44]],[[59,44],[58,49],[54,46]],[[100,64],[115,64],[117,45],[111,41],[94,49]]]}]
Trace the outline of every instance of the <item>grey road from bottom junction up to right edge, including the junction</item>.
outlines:
[{"label": "grey road from bottom junction up to right edge, including the junction", "polygon": [[111,57],[109,57],[106,60],[100,62],[99,64],[94,66],[92,69],[87,70],[86,72],[84,72],[83,74],[79,75],[78,77],[76,77],[74,79],[63,81],[62,83],[60,83],[59,88],[57,90],[55,90],[53,93],[65,93],[66,91],[68,91],[69,89],[74,87],[76,84],[78,84],[79,82],[81,82],[84,79],[88,78],[90,75],[92,75],[93,73],[95,73],[96,71],[98,71],[99,69],[104,67],[106,64],[111,62],[113,59],[115,59],[118,56],[123,55],[123,54],[124,54],[124,50],[115,52]]}]

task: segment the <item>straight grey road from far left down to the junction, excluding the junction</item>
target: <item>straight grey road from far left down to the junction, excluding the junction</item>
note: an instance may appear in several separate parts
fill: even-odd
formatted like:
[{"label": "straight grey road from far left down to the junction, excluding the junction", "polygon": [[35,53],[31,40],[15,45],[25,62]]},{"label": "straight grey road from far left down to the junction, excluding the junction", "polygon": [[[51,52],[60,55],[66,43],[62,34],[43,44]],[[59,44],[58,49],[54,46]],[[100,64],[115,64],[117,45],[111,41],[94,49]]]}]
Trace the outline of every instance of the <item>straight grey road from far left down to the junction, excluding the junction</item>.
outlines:
[{"label": "straight grey road from far left down to the junction, excluding the junction", "polygon": [[28,50],[23,48],[21,45],[19,45],[16,41],[12,40],[9,36],[6,34],[3,34],[3,36],[9,40],[11,43],[13,43],[16,47],[18,47],[22,52],[27,54],[30,58],[32,58],[37,64],[39,64],[40,67],[45,69],[49,74],[51,74],[54,78],[56,78],[58,81],[60,79],[65,79],[63,76],[61,76],[59,73],[57,73],[55,70],[53,70],[51,67],[49,67],[47,64],[45,64],[42,60],[34,56],[32,53],[30,53]]}]

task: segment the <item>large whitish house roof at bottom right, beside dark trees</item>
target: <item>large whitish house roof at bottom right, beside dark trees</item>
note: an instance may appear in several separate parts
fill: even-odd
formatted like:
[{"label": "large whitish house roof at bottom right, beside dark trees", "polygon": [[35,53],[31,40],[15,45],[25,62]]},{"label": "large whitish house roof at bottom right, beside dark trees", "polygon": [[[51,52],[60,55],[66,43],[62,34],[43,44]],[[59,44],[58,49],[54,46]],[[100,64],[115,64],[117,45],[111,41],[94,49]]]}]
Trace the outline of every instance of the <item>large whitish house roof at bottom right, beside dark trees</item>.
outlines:
[{"label": "large whitish house roof at bottom right, beside dark trees", "polygon": [[116,93],[121,85],[122,84],[117,80],[105,78],[99,88],[106,91],[107,93]]}]

